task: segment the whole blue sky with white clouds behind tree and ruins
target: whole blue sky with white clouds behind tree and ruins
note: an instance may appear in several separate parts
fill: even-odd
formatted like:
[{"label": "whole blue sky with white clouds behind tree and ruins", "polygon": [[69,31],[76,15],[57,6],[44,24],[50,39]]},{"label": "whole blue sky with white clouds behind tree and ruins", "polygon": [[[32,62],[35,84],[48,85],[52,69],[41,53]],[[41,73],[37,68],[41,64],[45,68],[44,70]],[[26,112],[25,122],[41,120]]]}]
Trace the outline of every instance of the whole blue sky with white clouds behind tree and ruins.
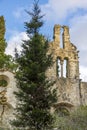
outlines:
[{"label": "whole blue sky with white clouds behind tree and ruins", "polygon": [[[33,0],[0,0],[0,15],[5,18],[8,43],[6,53],[20,50],[22,39],[27,39],[24,22],[30,18],[25,10],[31,10]],[[87,0],[39,0],[44,16],[44,35],[52,39],[54,24],[70,28],[71,42],[79,52],[80,77],[87,81]]]}]

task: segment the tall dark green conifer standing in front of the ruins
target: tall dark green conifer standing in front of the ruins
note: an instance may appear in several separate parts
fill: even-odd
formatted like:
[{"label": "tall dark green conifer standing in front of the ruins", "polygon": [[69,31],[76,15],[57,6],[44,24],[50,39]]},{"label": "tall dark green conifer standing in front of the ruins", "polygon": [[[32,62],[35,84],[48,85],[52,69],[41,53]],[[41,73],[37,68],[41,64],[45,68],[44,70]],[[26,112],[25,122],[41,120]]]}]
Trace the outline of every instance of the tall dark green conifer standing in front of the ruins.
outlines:
[{"label": "tall dark green conifer standing in front of the ruins", "polygon": [[17,55],[19,65],[16,72],[17,98],[16,119],[12,124],[28,130],[45,130],[51,126],[53,117],[50,113],[56,102],[54,81],[46,76],[51,67],[52,54],[48,53],[49,40],[40,33],[43,15],[38,2],[34,1],[32,12],[27,11],[31,20],[25,22],[29,40],[23,41],[21,55]]}]

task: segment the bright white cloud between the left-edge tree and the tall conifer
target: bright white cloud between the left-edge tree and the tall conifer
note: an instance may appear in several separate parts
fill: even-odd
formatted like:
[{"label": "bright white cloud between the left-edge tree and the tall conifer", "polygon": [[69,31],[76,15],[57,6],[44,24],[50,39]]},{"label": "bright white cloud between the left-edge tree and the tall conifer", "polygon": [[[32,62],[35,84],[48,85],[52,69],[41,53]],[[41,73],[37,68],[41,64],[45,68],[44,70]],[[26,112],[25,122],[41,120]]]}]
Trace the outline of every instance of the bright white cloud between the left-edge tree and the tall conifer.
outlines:
[{"label": "bright white cloud between the left-edge tree and the tall conifer", "polygon": [[18,52],[21,51],[21,44],[22,44],[22,40],[27,40],[28,36],[25,32],[15,32],[10,39],[8,40],[8,46],[6,48],[6,54],[10,54],[12,56],[14,56],[14,49],[15,47],[17,48]]}]

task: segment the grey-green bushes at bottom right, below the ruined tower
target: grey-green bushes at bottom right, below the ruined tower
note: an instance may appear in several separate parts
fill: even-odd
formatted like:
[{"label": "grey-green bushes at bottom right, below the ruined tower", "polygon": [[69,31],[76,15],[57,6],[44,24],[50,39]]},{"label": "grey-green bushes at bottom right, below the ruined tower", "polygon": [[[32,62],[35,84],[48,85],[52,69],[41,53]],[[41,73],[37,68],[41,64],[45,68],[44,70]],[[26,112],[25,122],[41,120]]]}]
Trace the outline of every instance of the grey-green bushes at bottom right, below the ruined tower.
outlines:
[{"label": "grey-green bushes at bottom right, below the ruined tower", "polygon": [[87,106],[81,106],[69,116],[55,114],[54,127],[59,130],[87,130]]}]

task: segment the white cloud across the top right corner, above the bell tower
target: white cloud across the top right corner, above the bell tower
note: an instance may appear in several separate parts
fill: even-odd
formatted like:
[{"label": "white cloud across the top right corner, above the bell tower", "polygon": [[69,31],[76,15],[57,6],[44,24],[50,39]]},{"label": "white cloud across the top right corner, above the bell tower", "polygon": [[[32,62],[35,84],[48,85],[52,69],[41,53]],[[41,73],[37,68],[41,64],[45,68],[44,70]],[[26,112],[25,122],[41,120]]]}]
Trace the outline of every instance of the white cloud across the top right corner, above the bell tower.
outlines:
[{"label": "white cloud across the top right corner, above the bell tower", "polygon": [[42,5],[47,20],[64,19],[80,8],[87,10],[87,0],[49,0],[47,4]]}]

